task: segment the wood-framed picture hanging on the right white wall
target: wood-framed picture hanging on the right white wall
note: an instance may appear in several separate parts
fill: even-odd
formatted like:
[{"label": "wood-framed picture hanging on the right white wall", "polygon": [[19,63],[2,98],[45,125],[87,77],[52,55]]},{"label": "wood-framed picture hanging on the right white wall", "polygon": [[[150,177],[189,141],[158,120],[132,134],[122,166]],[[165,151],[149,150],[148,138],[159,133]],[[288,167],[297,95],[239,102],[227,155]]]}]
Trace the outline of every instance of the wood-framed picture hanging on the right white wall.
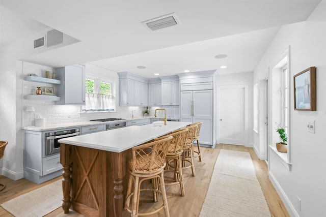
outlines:
[{"label": "wood-framed picture hanging on the right white wall", "polygon": [[316,111],[316,67],[293,76],[294,110]]}]

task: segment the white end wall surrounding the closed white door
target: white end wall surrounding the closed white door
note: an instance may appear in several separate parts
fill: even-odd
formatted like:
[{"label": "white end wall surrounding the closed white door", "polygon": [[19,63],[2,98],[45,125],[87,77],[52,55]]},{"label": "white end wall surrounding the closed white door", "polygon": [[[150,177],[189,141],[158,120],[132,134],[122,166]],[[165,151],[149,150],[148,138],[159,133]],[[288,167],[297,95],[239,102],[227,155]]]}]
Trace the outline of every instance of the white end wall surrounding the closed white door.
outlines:
[{"label": "white end wall surrounding the closed white door", "polygon": [[[248,103],[248,131],[246,132],[248,137],[248,144],[246,146],[253,146],[253,73],[237,73],[230,75],[219,75],[216,78],[217,86],[232,86],[232,85],[248,85],[248,100],[246,99],[246,103]],[[219,101],[216,101],[219,102]],[[219,107],[217,105],[216,107]],[[218,115],[216,115],[218,117]],[[217,125],[219,125],[219,120],[216,120]],[[217,130],[219,126],[217,127]],[[216,137],[219,138],[219,133],[216,132]]]}]

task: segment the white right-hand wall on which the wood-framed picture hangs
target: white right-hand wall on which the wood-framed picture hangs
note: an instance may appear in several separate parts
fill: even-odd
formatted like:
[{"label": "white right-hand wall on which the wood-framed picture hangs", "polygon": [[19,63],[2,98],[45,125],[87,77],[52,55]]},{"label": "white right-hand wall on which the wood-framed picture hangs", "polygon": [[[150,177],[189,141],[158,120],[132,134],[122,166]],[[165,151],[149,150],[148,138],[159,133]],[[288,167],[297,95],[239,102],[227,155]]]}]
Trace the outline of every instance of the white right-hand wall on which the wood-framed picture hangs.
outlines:
[{"label": "white right-hand wall on which the wood-framed picture hangs", "polygon": [[[254,71],[254,80],[265,78],[268,68],[275,66],[289,45],[290,78],[308,67],[317,67],[317,111],[294,111],[293,79],[290,79],[291,170],[281,163],[273,151],[269,155],[270,179],[291,216],[324,216],[326,213],[326,86],[323,84],[326,81],[325,11],[326,2],[322,1],[308,21],[281,27]],[[315,134],[308,133],[307,122],[310,119],[315,120]],[[273,129],[269,130],[271,132]],[[259,148],[259,144],[255,145]],[[301,199],[301,210],[297,205],[297,197]]]}]

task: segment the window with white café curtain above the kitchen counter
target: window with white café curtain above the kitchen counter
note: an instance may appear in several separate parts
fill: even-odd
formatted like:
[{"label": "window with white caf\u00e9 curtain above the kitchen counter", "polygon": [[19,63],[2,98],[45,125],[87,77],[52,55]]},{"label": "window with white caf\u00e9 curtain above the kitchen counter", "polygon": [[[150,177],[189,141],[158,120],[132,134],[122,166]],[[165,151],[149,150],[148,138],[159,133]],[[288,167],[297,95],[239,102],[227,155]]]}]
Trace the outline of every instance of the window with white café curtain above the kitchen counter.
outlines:
[{"label": "window with white caf\u00e9 curtain above the kitchen counter", "polygon": [[84,112],[115,111],[116,104],[113,96],[113,82],[99,78],[86,78],[86,105]]}]

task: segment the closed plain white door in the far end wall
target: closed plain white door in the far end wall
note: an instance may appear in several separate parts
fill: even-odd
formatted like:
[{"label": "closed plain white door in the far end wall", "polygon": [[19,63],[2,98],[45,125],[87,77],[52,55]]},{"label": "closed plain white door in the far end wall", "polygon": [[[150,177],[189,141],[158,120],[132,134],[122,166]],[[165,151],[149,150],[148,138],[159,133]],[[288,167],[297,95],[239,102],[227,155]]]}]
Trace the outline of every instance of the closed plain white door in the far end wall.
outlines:
[{"label": "closed plain white door in the far end wall", "polygon": [[245,145],[244,87],[220,88],[220,143]]}]

